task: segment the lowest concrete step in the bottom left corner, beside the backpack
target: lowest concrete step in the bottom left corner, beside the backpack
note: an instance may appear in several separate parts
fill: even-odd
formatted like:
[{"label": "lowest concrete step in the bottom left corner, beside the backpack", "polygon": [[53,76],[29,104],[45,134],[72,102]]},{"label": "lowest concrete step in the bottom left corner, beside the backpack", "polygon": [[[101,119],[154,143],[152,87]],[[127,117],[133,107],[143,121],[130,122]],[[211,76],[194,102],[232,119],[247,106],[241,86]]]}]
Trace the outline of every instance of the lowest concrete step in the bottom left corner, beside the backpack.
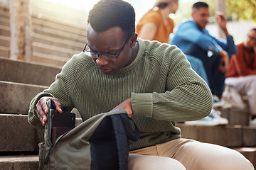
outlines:
[{"label": "lowest concrete step in the bottom left corner, beside the backpack", "polygon": [[0,156],[0,170],[38,169],[38,155]]}]

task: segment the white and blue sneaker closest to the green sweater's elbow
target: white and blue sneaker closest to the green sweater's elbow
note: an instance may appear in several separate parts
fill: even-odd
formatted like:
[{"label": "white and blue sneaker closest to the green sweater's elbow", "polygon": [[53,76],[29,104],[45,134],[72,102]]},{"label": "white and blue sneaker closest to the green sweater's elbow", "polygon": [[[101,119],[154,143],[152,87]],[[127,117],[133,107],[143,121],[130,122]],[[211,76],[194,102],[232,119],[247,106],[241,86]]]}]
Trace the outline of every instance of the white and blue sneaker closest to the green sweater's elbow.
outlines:
[{"label": "white and blue sneaker closest to the green sweater's elbow", "polygon": [[188,121],[188,122],[185,122],[185,124],[208,125],[208,126],[228,125],[228,119],[220,117],[220,111],[215,111],[214,109],[212,109],[212,111],[210,112],[210,115],[208,115],[206,118],[203,118],[201,120]]}]

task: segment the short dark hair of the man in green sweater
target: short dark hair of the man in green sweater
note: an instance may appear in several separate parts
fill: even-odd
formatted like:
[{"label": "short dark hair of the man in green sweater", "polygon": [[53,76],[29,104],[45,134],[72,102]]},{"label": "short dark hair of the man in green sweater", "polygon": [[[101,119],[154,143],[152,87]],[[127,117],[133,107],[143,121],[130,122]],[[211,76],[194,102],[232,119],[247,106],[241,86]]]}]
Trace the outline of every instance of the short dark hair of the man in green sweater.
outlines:
[{"label": "short dark hair of the man in green sweater", "polygon": [[87,22],[96,32],[119,26],[127,38],[135,31],[135,11],[126,1],[101,0],[89,12]]}]

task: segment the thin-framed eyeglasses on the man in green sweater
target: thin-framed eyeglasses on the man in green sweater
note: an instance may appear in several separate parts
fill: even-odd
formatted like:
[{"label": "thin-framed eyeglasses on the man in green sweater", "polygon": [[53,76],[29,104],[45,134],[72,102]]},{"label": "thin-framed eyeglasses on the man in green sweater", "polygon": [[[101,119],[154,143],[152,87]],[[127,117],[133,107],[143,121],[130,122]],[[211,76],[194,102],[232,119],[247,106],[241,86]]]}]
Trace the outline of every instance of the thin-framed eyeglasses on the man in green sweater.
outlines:
[{"label": "thin-framed eyeglasses on the man in green sweater", "polygon": [[[98,52],[92,52],[89,50],[85,50],[86,46],[88,45],[86,43],[84,50],[82,50],[83,52],[85,52],[85,54],[89,57],[95,58],[97,59],[98,57],[100,57],[100,55],[102,55],[102,57],[105,58],[105,60],[109,60],[109,61],[117,61],[117,58],[119,57],[120,53],[122,52],[122,50],[124,49],[124,46],[126,45],[126,43],[128,42],[129,38],[132,37],[132,35],[134,35],[135,32],[133,32],[131,35],[129,35],[129,37],[127,38],[127,40],[124,42],[124,45],[120,48],[119,52],[116,52],[114,55],[109,55],[109,54],[102,54],[102,53],[98,53]],[[90,45],[88,45],[88,47],[90,47]],[[91,47],[90,47],[91,49]],[[118,54],[117,54],[118,53]]]}]

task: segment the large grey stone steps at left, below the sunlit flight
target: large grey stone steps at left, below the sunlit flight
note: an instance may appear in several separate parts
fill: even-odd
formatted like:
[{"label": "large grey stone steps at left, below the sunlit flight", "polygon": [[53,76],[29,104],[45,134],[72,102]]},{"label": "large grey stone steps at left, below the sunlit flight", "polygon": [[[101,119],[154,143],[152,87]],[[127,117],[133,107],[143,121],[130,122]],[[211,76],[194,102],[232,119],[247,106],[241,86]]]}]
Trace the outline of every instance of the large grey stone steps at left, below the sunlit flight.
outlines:
[{"label": "large grey stone steps at left, below the sunlit flight", "polygon": [[[60,70],[0,57],[0,169],[38,169],[38,143],[43,142],[43,129],[29,125],[28,106],[36,94],[53,83]],[[78,125],[82,120],[77,117]]]}]

